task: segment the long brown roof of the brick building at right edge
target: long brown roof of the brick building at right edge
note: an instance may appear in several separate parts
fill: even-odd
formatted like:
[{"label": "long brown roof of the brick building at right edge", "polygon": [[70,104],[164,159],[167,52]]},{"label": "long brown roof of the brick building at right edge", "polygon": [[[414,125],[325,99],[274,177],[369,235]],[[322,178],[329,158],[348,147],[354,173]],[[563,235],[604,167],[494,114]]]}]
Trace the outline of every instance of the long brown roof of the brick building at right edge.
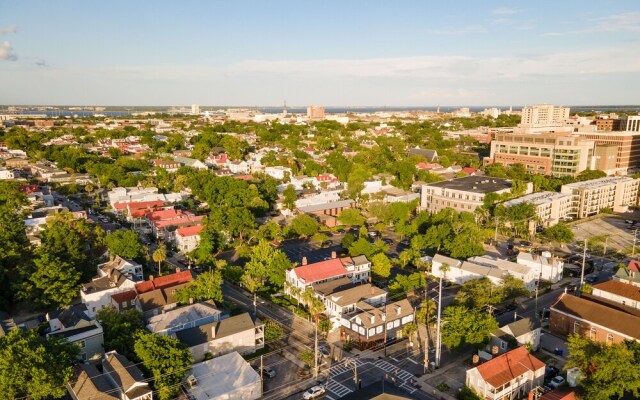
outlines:
[{"label": "long brown roof of the brick building at right edge", "polygon": [[638,329],[638,327],[640,327],[640,317],[627,314],[612,307],[563,293],[558,300],[551,305],[551,310],[564,312],[604,326],[607,329],[611,329],[628,337],[640,339],[640,329]]}]

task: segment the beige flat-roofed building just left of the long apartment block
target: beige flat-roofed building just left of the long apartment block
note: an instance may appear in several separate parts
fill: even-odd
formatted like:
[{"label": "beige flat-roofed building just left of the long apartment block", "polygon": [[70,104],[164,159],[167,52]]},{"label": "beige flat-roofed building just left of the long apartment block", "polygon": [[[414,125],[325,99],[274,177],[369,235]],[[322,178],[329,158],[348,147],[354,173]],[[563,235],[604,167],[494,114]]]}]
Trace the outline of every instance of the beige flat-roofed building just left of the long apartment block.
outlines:
[{"label": "beige flat-roofed building just left of the long apartment block", "polygon": [[565,219],[571,211],[571,195],[567,193],[537,192],[502,203],[505,207],[530,203],[536,208],[537,221],[532,221],[531,232],[535,232],[536,225],[549,227]]}]

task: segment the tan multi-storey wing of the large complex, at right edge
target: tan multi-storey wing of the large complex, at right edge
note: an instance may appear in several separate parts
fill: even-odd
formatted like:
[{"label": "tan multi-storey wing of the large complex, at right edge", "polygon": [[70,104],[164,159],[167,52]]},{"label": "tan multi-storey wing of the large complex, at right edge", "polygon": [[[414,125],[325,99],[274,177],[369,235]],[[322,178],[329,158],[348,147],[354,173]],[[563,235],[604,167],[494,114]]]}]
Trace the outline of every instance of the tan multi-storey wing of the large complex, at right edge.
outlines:
[{"label": "tan multi-storey wing of the large complex, at right edge", "polygon": [[[575,132],[574,135],[595,143],[592,169],[605,171],[609,175],[626,175],[640,170],[640,132]],[[605,147],[613,147],[605,151]],[[611,153],[611,154],[609,154]],[[603,157],[615,154],[614,162],[605,162]]]}]

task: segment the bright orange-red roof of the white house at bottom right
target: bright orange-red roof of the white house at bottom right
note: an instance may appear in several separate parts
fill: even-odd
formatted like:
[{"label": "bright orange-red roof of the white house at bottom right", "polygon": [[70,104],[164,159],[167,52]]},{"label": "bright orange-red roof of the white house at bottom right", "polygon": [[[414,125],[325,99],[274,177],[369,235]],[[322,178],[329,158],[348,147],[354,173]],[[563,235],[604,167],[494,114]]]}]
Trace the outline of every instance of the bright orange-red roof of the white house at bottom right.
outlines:
[{"label": "bright orange-red roof of the white house at bottom right", "polygon": [[526,347],[518,347],[486,363],[479,365],[478,372],[494,388],[511,382],[527,371],[544,368],[544,363],[532,356]]}]

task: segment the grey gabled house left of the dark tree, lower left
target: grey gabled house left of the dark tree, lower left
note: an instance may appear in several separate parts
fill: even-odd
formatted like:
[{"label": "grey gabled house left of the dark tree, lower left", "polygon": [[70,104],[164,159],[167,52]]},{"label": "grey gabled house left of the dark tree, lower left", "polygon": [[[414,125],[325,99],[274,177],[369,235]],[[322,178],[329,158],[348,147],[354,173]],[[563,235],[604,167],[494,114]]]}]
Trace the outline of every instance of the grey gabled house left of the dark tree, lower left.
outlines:
[{"label": "grey gabled house left of the dark tree, lower left", "polygon": [[104,334],[98,321],[90,318],[83,304],[76,304],[63,310],[49,312],[46,319],[49,322],[49,333],[52,336],[63,337],[71,343],[80,346],[81,360],[98,360],[104,354]]}]

